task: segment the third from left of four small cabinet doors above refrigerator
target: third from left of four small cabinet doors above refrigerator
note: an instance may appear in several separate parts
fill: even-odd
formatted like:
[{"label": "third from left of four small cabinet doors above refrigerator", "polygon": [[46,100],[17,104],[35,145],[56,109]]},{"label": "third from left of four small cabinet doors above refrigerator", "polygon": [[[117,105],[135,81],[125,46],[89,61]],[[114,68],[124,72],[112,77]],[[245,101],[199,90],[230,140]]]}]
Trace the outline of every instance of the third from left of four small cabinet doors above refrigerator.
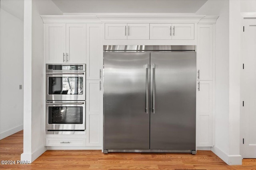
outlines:
[{"label": "third from left of four small cabinet doors above refrigerator", "polygon": [[172,24],[150,23],[150,39],[172,39]]}]

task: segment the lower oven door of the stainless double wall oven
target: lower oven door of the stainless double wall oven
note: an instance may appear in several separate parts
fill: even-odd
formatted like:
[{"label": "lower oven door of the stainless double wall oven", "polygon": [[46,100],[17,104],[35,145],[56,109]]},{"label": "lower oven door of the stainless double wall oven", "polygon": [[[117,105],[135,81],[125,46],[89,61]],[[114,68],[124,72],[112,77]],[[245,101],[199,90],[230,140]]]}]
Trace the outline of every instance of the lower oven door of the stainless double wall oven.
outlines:
[{"label": "lower oven door of the stainless double wall oven", "polygon": [[46,102],[46,131],[84,131],[85,101]]}]

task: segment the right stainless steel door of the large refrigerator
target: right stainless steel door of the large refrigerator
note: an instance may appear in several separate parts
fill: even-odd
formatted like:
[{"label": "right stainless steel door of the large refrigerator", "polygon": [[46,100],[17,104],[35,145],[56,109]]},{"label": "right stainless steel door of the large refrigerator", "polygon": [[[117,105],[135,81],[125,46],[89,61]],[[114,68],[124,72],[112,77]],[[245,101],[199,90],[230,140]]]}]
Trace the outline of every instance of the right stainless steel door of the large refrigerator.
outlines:
[{"label": "right stainless steel door of the large refrigerator", "polygon": [[196,150],[196,52],[152,52],[150,64],[150,149]]}]

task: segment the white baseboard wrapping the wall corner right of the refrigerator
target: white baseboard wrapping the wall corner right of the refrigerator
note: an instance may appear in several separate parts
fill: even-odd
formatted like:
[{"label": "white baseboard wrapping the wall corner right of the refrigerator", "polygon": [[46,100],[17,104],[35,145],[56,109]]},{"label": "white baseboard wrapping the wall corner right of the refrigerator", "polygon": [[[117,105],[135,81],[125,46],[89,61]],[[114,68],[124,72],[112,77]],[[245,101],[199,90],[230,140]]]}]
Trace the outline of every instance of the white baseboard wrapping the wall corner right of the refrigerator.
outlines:
[{"label": "white baseboard wrapping the wall corner right of the refrigerator", "polygon": [[241,155],[228,155],[218,147],[212,147],[212,152],[220,157],[228,165],[242,165],[242,156]]}]

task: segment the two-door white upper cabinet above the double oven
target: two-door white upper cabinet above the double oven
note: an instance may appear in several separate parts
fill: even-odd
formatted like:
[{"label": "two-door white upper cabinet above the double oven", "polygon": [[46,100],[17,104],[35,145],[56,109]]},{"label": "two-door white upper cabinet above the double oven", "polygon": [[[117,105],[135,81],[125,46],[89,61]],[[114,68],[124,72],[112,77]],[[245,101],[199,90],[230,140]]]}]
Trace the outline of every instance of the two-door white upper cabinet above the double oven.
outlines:
[{"label": "two-door white upper cabinet above the double oven", "polygon": [[86,63],[86,24],[45,25],[46,63]]}]

